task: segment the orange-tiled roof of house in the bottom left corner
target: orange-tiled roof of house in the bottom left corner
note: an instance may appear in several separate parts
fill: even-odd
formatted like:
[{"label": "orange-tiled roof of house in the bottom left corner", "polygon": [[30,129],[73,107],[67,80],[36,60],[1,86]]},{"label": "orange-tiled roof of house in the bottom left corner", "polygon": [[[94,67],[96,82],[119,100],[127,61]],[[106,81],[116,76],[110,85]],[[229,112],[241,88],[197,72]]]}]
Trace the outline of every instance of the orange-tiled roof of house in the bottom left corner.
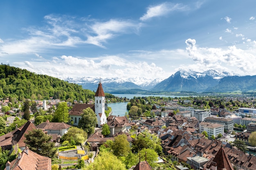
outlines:
[{"label": "orange-tiled roof of house in the bottom left corner", "polygon": [[48,157],[38,155],[26,147],[18,157],[7,162],[4,170],[51,170],[52,160]]}]

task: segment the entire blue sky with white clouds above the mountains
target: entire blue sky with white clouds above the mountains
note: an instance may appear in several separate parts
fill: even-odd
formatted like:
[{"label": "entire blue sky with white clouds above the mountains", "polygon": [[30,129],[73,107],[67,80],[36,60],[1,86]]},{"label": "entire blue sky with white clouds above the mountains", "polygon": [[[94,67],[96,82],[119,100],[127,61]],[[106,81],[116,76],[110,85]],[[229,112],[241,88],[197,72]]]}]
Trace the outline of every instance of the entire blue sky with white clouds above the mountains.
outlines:
[{"label": "entire blue sky with white clouds above the mountains", "polygon": [[56,78],[256,75],[255,0],[1,0],[0,60]]}]

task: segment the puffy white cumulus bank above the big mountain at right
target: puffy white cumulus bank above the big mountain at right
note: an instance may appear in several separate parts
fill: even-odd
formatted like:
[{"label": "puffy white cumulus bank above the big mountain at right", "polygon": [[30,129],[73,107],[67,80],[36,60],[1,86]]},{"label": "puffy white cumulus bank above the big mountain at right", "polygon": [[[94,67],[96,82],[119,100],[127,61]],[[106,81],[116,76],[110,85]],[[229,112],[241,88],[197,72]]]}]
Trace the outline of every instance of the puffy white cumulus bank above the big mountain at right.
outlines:
[{"label": "puffy white cumulus bank above the big mountain at right", "polygon": [[[205,71],[209,69],[225,70],[229,72],[236,72],[240,75],[254,75],[256,67],[255,43],[251,43],[249,50],[243,50],[236,46],[229,46],[228,48],[196,48],[195,39],[187,39],[187,52],[189,56],[195,61],[186,65],[192,70]],[[181,65],[184,67],[184,65]]]}]

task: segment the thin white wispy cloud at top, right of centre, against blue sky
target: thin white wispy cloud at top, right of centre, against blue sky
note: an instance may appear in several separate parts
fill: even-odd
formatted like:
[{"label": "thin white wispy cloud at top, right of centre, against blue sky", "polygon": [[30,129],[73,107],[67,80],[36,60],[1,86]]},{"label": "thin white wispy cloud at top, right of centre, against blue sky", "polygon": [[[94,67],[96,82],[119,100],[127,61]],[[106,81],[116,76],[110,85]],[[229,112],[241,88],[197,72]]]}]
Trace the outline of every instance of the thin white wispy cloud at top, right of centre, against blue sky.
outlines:
[{"label": "thin white wispy cloud at top, right of centre, against blue sky", "polygon": [[147,12],[139,19],[142,21],[145,21],[152,17],[166,15],[171,11],[184,11],[184,10],[188,10],[188,7],[184,6],[183,4],[173,4],[173,3],[165,2],[156,6],[148,7]]}]

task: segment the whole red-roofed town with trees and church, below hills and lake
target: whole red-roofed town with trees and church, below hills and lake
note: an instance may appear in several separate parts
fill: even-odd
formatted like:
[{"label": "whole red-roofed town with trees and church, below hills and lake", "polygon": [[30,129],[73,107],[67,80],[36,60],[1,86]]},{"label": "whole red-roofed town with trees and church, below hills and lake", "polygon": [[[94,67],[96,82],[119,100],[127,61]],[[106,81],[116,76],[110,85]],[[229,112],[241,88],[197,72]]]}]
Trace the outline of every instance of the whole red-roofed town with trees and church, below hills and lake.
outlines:
[{"label": "whole red-roofed town with trees and church, below hills and lake", "polygon": [[2,169],[256,169],[253,97],[119,98],[125,116],[113,101],[101,82],[88,103],[2,99]]}]

